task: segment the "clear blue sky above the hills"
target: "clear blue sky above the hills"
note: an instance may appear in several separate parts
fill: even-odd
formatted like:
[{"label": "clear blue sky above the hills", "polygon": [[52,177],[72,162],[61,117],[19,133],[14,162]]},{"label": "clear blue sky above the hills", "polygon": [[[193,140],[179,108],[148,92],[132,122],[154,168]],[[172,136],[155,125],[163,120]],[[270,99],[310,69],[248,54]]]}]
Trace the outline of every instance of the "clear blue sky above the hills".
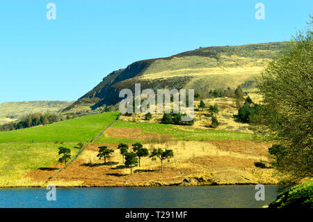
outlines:
[{"label": "clear blue sky above the hills", "polygon": [[[56,20],[46,18],[50,2]],[[77,100],[134,61],[289,40],[309,13],[312,0],[1,0],[0,103]]]}]

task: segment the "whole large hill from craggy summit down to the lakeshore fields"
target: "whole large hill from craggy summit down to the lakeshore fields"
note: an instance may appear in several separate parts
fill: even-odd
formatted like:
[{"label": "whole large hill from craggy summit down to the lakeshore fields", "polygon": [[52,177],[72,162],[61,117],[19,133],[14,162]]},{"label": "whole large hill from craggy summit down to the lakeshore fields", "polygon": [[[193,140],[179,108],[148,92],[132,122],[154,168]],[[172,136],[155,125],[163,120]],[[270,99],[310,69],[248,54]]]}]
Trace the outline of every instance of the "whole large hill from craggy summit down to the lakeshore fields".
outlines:
[{"label": "whole large hill from craggy summit down to the lakeshore fields", "polygon": [[[143,114],[122,115],[115,121],[118,112],[105,112],[0,132],[3,157],[0,187],[45,186],[47,180],[59,187],[277,184],[277,172],[271,168],[272,157],[268,155],[273,141],[252,134],[248,123],[236,121],[238,98],[209,97],[209,90],[230,87],[233,92],[241,85],[253,102],[259,102],[262,98],[255,90],[255,77],[280,53],[283,45],[277,42],[200,48],[167,58],[138,61],[111,72],[77,102],[67,104],[62,114],[102,112],[98,108],[116,104],[120,100],[119,91],[134,89],[135,83],[141,83],[142,89],[195,88],[206,107],[195,109],[195,123],[190,126],[162,124],[161,114],[150,120],[145,120]],[[199,104],[198,98],[195,108]],[[218,106],[217,129],[211,128],[210,105]],[[93,143],[78,152],[77,143],[86,144],[96,135],[99,137]],[[164,173],[159,161],[150,158],[134,167],[134,174],[129,173],[118,144],[127,143],[131,151],[136,142],[143,143],[150,153],[154,148],[173,150],[174,157],[164,163]],[[104,145],[114,150],[107,163],[97,157],[99,147]],[[77,152],[79,156],[50,178],[64,166],[58,163],[60,146],[71,148],[72,158]],[[10,168],[13,163],[15,168]]]}]

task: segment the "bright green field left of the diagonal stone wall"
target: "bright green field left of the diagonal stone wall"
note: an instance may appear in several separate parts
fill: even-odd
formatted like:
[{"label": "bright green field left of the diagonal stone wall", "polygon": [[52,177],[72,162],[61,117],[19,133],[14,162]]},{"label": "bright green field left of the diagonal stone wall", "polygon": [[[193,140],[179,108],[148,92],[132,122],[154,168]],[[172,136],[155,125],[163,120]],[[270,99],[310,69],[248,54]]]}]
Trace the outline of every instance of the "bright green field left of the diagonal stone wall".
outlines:
[{"label": "bright green field left of the diagonal stone wall", "polygon": [[[59,147],[70,148],[74,157],[79,151],[75,148],[77,143],[86,144],[117,116],[117,112],[101,113],[42,127],[0,132],[0,187],[42,185],[42,182],[38,183],[35,178],[29,177],[29,173],[40,170],[49,177],[64,166],[58,163]],[[55,167],[51,168],[51,165]]]}]

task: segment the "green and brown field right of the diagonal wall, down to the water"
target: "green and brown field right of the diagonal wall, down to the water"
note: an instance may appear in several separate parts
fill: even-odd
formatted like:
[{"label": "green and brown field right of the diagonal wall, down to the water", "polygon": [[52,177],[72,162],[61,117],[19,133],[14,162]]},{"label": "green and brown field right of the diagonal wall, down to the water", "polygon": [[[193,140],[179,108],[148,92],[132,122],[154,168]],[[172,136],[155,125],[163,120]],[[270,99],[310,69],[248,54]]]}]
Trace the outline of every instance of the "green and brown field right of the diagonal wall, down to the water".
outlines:
[{"label": "green and brown field right of the diagonal wall, down to the water", "polygon": [[[174,157],[163,161],[164,173],[159,160],[145,157],[130,175],[129,168],[122,163],[118,144],[127,143],[132,151],[131,144],[138,141],[150,153],[154,148],[173,150]],[[97,157],[102,145],[114,150],[106,164]],[[270,142],[255,140],[253,135],[241,132],[118,120],[49,182],[61,187],[275,184],[275,170],[268,167],[270,146]],[[57,166],[51,167],[56,168],[51,173],[58,170]],[[40,169],[29,175],[38,183],[49,177]]]}]

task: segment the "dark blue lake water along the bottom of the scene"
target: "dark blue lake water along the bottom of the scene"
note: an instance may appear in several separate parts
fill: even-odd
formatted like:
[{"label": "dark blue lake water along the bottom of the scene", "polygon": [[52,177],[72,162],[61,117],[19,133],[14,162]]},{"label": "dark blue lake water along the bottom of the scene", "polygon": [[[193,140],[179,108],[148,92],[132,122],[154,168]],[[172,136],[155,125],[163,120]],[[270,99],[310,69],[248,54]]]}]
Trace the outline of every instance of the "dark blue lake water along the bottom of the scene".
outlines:
[{"label": "dark blue lake water along the bottom of the scene", "polygon": [[144,188],[0,189],[0,207],[262,207],[275,200],[278,186],[265,185],[265,200],[255,200],[254,185]]}]

